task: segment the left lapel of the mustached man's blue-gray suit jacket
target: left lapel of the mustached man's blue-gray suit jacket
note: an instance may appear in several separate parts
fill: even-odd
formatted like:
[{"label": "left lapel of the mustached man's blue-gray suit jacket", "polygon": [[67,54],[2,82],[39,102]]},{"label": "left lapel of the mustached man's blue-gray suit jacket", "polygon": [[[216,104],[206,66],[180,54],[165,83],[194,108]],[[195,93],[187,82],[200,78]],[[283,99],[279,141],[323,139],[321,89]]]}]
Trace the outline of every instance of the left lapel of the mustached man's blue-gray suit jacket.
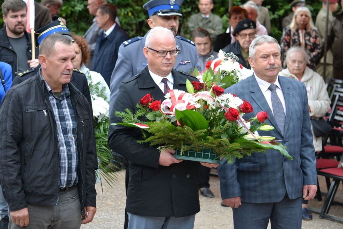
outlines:
[{"label": "left lapel of the mustached man's blue-gray suit jacket", "polygon": [[279,126],[277,126],[273,112],[270,109],[270,106],[268,105],[267,100],[265,100],[264,95],[263,95],[260,87],[258,86],[258,83],[255,79],[255,74],[253,74],[252,77],[250,77],[250,92],[251,92],[252,99],[260,107],[260,109],[262,111],[265,111],[268,113],[269,121],[275,127],[275,129],[277,129],[277,131],[279,131],[279,133],[281,135],[281,130],[280,130]]}]

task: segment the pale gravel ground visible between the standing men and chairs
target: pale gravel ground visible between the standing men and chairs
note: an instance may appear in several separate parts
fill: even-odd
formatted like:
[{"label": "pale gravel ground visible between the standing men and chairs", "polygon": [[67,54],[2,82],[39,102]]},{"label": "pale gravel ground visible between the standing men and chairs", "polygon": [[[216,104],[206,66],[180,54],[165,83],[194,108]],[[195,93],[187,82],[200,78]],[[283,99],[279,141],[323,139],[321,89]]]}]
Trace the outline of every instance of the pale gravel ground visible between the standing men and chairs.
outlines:
[{"label": "pale gravel ground visible between the standing men and chairs", "polygon": [[[96,184],[97,190],[97,213],[93,222],[81,226],[82,229],[121,229],[124,225],[125,209],[125,171],[116,173],[118,181],[114,188],[107,183],[103,184],[103,193],[100,183]],[[320,176],[319,183],[322,192],[326,192],[325,180]],[[195,229],[231,229],[233,228],[232,210],[229,207],[222,207],[219,180],[217,177],[210,177],[211,190],[214,198],[205,198],[199,195],[201,211],[196,215]],[[323,200],[324,201],[324,200]],[[310,207],[321,208],[323,201],[317,199],[309,202]],[[343,203],[343,188],[339,186],[335,201]],[[333,205],[330,214],[343,217],[343,206]],[[328,219],[320,219],[318,214],[312,213],[313,220],[304,221],[306,229],[342,229],[343,224]],[[270,226],[268,227],[270,228]]]}]

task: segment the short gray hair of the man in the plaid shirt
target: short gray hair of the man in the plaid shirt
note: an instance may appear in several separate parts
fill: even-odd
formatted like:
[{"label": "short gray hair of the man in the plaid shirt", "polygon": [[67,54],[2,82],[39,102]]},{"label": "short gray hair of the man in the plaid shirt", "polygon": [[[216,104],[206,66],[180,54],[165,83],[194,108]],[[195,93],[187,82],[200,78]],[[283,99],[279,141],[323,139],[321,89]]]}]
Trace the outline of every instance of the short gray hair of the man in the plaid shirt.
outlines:
[{"label": "short gray hair of the man in the plaid shirt", "polygon": [[72,45],[73,42],[68,36],[62,34],[54,33],[45,37],[39,45],[39,55],[43,55],[48,59],[51,59],[55,55],[55,44],[57,42],[63,45]]}]

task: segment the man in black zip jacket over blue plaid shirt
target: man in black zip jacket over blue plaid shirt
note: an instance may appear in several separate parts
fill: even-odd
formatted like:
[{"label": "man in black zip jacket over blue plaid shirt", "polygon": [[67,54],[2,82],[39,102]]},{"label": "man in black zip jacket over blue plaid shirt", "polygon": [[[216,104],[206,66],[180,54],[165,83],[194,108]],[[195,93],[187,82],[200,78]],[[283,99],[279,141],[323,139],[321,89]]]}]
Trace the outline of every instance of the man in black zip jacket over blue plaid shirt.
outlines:
[{"label": "man in black zip jacket over blue plaid shirt", "polygon": [[10,227],[76,229],[96,212],[92,112],[70,83],[69,38],[46,37],[38,59],[37,75],[12,87],[0,109],[0,182]]}]

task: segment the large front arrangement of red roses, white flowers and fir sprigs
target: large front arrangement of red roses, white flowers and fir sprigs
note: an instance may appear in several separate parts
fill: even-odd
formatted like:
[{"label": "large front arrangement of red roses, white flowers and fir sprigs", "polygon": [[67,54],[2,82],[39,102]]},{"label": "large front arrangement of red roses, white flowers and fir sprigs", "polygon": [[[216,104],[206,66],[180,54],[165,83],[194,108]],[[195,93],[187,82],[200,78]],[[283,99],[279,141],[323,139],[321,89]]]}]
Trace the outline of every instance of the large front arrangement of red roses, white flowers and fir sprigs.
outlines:
[{"label": "large front arrangement of red roses, white flowers and fir sprigs", "polygon": [[[225,62],[228,60],[223,60],[218,66],[227,64]],[[214,69],[218,66],[214,66]],[[187,80],[187,92],[169,90],[162,102],[154,100],[150,93],[146,94],[136,105],[134,114],[129,109],[115,113],[122,118],[118,124],[141,128],[143,140],[138,142],[148,142],[160,150],[179,149],[182,154],[188,150],[199,152],[211,149],[216,153],[216,158],[223,157],[232,162],[234,157],[275,149],[292,159],[285,146],[273,141],[274,137],[258,135],[258,130],[274,128],[263,123],[268,119],[266,112],[259,112],[255,117],[244,120],[244,114],[253,112],[250,103],[234,94],[224,93],[223,87],[217,85],[231,84],[227,78],[230,76],[234,79],[237,69],[226,75],[219,69],[216,74],[211,71],[212,67],[207,73],[204,72],[201,82]]]}]

